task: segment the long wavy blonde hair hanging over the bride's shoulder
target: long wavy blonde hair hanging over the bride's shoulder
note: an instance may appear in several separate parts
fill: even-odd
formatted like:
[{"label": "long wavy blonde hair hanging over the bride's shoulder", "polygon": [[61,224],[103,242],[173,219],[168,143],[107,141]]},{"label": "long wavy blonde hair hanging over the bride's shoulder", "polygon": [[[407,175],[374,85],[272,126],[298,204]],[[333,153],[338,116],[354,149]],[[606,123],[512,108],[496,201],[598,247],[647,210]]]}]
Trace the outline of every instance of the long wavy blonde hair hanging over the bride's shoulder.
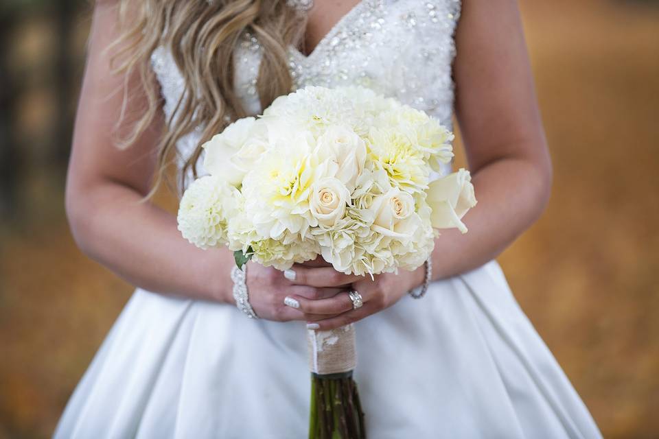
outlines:
[{"label": "long wavy blonde hair hanging over the bride's shoulder", "polygon": [[[185,81],[185,91],[174,111],[176,118],[167,121],[160,141],[152,193],[167,180],[165,170],[181,137],[203,128],[192,156],[182,158],[183,187],[189,171],[197,176],[201,145],[231,121],[246,116],[234,89],[235,49],[245,32],[251,32],[262,47],[256,84],[262,107],[291,91],[287,47],[300,42],[305,16],[285,0],[119,0],[117,12],[122,33],[111,47],[115,49],[113,71],[126,78],[139,73],[147,97],[146,110],[140,110],[141,115],[132,121],[129,134],[119,139],[119,145],[135,143],[162,104],[150,61],[154,49],[170,49]],[[130,99],[130,93],[126,96]]]}]

